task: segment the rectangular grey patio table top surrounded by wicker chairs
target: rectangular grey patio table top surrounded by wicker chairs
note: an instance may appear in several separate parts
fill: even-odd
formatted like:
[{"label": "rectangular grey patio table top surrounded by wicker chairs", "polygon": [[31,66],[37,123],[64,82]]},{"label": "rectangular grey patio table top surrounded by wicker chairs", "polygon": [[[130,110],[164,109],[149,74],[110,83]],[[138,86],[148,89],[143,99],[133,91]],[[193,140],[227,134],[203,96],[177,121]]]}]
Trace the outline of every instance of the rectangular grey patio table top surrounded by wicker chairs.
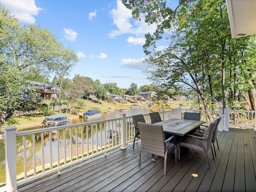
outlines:
[{"label": "rectangular grey patio table top surrounded by wicker chairs", "polygon": [[184,136],[188,132],[204,124],[204,121],[194,121],[194,120],[174,118],[174,119],[161,121],[154,124],[162,125],[164,132],[168,132],[178,136]]}]

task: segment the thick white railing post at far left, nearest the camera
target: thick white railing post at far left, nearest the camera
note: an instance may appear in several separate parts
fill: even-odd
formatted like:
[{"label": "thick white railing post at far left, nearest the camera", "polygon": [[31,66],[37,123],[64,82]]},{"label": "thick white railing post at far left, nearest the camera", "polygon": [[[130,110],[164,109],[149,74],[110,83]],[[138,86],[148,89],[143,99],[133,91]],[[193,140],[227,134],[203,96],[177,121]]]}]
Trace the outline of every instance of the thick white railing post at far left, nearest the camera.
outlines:
[{"label": "thick white railing post at far left, nearest the camera", "polygon": [[7,192],[17,191],[16,180],[16,127],[5,127],[5,173],[6,173],[6,189]]}]

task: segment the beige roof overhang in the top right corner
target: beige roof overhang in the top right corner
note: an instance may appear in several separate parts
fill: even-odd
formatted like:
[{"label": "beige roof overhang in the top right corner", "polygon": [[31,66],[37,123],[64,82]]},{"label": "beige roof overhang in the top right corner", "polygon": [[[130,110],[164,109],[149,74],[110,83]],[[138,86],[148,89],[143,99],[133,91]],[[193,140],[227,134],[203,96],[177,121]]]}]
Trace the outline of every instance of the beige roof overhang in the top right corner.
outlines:
[{"label": "beige roof overhang in the top right corner", "polygon": [[232,38],[256,34],[256,0],[226,0]]}]

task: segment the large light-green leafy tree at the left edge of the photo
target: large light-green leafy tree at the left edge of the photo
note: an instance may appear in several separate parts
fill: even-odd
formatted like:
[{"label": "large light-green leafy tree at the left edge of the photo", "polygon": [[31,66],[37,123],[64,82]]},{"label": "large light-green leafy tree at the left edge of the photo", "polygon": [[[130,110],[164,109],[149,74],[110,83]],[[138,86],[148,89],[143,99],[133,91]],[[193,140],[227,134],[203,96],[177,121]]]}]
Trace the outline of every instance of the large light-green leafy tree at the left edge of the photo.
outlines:
[{"label": "large light-green leafy tree at the left edge of the photo", "polygon": [[0,124],[4,124],[6,114],[23,103],[27,80],[33,80],[33,74],[47,78],[63,46],[52,32],[19,23],[2,5],[0,25]]}]

